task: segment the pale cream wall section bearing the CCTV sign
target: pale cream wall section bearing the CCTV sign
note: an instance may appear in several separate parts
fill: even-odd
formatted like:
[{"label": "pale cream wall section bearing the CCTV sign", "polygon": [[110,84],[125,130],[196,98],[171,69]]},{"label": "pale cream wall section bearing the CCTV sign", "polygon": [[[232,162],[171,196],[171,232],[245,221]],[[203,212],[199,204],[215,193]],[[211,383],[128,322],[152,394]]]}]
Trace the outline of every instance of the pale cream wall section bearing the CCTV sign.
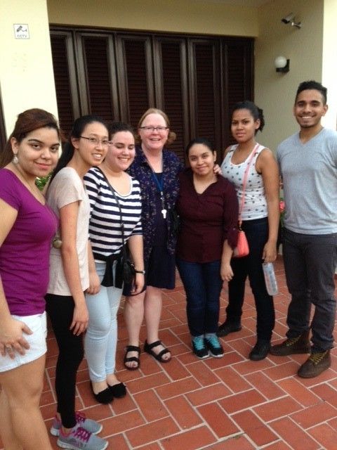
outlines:
[{"label": "pale cream wall section bearing the CCTV sign", "polygon": [[[28,24],[29,39],[15,39],[15,23]],[[23,110],[58,111],[46,0],[1,0],[0,30],[0,86],[8,135]]]}]

